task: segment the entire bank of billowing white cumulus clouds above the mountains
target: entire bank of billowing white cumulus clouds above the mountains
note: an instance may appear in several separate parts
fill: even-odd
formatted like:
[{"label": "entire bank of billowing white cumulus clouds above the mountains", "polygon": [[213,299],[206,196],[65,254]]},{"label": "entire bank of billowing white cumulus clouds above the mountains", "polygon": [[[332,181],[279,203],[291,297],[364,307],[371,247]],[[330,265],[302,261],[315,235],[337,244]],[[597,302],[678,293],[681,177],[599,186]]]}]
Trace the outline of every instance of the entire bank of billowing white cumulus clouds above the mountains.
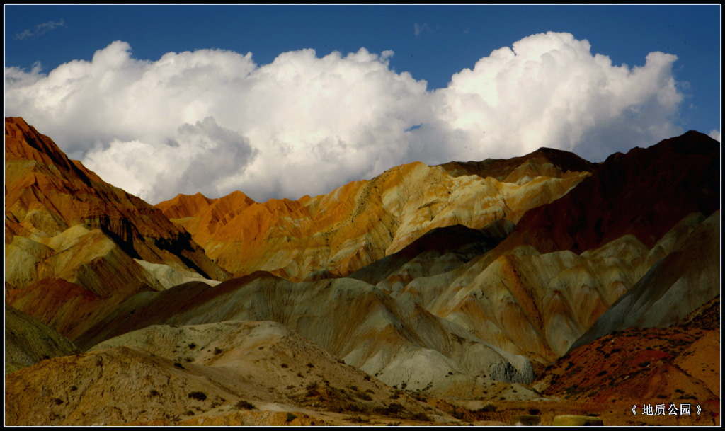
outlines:
[{"label": "entire bank of billowing white cumulus clouds above the mountains", "polygon": [[152,203],[198,191],[299,198],[415,160],[541,146],[600,161],[682,133],[674,55],[629,67],[590,49],[568,33],[531,35],[428,91],[392,70],[392,51],[304,49],[259,65],[202,49],[151,62],[116,41],[48,74],[6,68],[6,112]]}]

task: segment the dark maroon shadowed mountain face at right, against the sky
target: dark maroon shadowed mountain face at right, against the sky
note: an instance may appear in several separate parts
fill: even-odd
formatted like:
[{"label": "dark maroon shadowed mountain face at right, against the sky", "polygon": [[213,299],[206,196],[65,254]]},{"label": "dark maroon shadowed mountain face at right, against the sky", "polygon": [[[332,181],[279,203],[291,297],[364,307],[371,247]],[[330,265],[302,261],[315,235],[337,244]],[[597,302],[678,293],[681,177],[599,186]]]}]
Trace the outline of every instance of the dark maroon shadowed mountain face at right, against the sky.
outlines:
[{"label": "dark maroon shadowed mountain face at right, against the sky", "polygon": [[719,208],[720,143],[687,132],[613,154],[571,193],[527,212],[500,247],[589,250],[624,235],[650,247],[683,217]]}]

